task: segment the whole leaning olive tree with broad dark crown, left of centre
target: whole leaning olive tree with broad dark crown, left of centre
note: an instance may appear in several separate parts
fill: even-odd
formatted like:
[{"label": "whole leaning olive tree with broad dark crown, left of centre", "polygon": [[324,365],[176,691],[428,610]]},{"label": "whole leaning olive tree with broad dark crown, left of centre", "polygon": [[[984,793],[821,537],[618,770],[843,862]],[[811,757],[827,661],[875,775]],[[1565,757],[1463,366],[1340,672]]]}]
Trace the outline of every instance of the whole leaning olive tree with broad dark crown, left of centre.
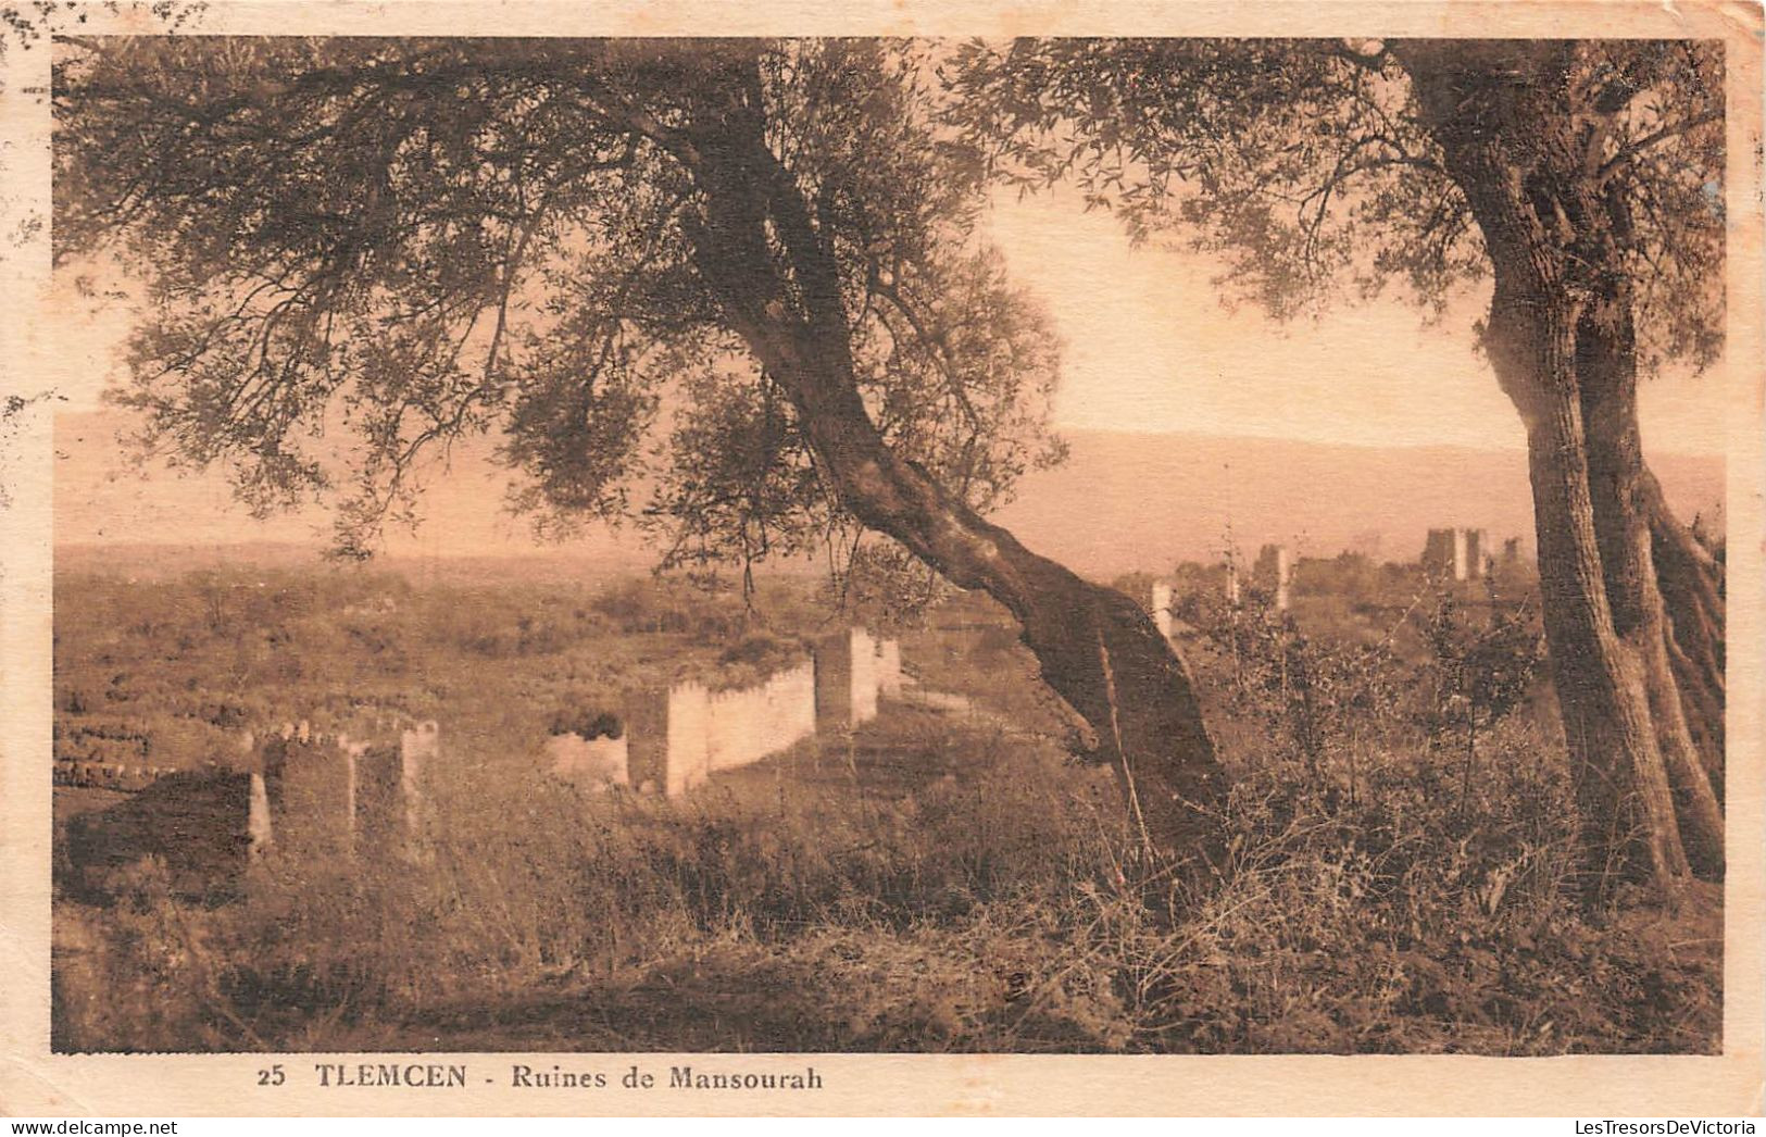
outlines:
[{"label": "whole leaning olive tree with broad dark crown, left of centre", "polygon": [[[837,508],[1023,625],[1160,856],[1213,844],[1190,678],[1128,597],[984,510],[1045,454],[1054,351],[975,235],[982,164],[887,41],[67,41],[57,242],[150,279],[150,431],[272,508],[360,438],[346,542],[498,429],[519,503],[791,544]],[[1199,863],[1199,862],[1192,862]]]}]

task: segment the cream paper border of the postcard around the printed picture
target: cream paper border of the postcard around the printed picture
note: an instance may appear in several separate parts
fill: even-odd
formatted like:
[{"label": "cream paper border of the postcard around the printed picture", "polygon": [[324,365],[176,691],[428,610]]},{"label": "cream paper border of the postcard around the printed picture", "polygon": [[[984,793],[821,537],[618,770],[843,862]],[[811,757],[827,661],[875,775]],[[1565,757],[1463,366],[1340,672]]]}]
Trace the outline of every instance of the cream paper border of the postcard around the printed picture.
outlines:
[{"label": "cream paper border of the postcard around the printed picture", "polygon": [[[1411,35],[1411,37],[1715,37],[1729,60],[1729,879],[1725,897],[1724,1054],[1715,1058],[1499,1059],[1397,1058],[1091,1058],[1091,1056],[717,1056],[721,1068],[795,1072],[814,1065],[814,1093],[517,1091],[517,1054],[449,1056],[479,1086],[457,1091],[320,1089],[291,1077],[256,1086],[265,1054],[60,1056],[49,1038],[49,579],[51,417],[35,415],[12,456],[0,581],[0,1112],[132,1116],[424,1116],[424,1114],[1515,1114],[1732,1116],[1762,1107],[1766,1054],[1766,574],[1762,574],[1762,207],[1761,7],[1757,4],[844,4],[717,0],[659,4],[212,4],[203,34],[479,35]],[[87,34],[152,30],[94,16]],[[55,385],[58,353],[41,332],[48,298],[48,51],[9,51],[0,94],[0,161],[9,235],[0,314],[7,387]],[[1741,537],[1741,540],[1734,540]],[[355,1056],[291,1054],[316,1061]],[[387,1061],[394,1056],[362,1056]],[[544,1066],[630,1065],[660,1072],[682,1056],[539,1056]],[[533,1061],[533,1058],[526,1058]],[[705,1065],[705,1063],[701,1063]],[[482,1075],[482,1077],[480,1077]]]}]

